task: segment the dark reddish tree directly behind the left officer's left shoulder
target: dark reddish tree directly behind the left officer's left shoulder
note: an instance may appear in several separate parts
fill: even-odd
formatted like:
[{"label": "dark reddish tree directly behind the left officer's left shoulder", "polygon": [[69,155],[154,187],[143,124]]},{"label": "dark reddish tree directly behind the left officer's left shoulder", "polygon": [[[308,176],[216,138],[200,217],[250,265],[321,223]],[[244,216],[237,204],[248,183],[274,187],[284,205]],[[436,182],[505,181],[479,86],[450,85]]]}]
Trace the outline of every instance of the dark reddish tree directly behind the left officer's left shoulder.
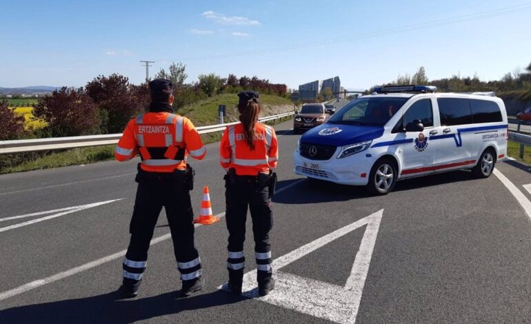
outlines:
[{"label": "dark reddish tree directly behind the left officer's left shoulder", "polygon": [[139,88],[142,86],[131,85],[129,79],[120,74],[100,75],[87,83],[87,94],[99,109],[107,112],[104,131],[122,132],[132,117],[146,110],[149,100],[146,102],[146,93]]}]

